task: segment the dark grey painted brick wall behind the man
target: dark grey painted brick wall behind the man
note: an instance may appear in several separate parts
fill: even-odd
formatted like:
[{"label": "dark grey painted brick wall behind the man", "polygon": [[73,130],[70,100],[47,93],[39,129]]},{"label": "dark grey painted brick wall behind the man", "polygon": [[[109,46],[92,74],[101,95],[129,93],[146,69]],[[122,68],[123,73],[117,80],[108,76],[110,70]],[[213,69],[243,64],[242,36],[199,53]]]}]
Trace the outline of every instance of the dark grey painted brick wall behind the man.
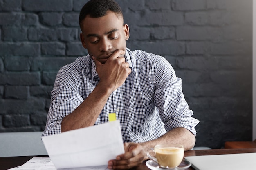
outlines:
[{"label": "dark grey painted brick wall behind the man", "polygon": [[[40,131],[57,71],[87,55],[87,0],[0,0],[0,132]],[[196,146],[252,140],[252,0],[118,0],[127,46],[163,55],[182,78]]]}]

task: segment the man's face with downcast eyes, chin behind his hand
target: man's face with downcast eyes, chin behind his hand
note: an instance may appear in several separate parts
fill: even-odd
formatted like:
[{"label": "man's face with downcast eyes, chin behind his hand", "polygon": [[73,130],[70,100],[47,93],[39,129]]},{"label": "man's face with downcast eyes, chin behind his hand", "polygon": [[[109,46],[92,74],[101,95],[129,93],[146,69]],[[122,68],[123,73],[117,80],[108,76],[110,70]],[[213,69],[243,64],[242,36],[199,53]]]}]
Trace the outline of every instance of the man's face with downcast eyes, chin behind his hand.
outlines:
[{"label": "man's face with downcast eyes, chin behind his hand", "polygon": [[86,16],[80,38],[89,55],[104,64],[115,50],[126,51],[129,27],[127,24],[123,25],[121,16],[108,11],[107,15],[100,18]]}]

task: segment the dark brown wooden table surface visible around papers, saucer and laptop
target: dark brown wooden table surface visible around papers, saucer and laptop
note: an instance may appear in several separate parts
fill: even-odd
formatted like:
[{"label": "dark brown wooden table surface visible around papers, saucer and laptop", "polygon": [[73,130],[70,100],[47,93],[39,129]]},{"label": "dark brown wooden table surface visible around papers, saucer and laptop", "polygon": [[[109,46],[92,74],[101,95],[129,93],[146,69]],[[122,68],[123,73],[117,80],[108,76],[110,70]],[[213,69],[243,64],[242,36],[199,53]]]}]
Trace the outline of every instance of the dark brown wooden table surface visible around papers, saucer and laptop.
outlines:
[{"label": "dark brown wooden table surface visible around papers, saucer and laptop", "polygon": [[[243,149],[211,149],[211,150],[189,150],[184,153],[184,157],[187,156],[199,156],[199,155],[220,155],[220,154],[235,154],[235,153],[254,153],[256,148],[243,148]],[[43,155],[47,156],[47,155]],[[7,170],[29,161],[34,156],[22,156],[22,157],[0,157],[0,170]],[[145,163],[138,166],[136,170],[149,170]],[[194,170],[189,167],[187,170]]]}]

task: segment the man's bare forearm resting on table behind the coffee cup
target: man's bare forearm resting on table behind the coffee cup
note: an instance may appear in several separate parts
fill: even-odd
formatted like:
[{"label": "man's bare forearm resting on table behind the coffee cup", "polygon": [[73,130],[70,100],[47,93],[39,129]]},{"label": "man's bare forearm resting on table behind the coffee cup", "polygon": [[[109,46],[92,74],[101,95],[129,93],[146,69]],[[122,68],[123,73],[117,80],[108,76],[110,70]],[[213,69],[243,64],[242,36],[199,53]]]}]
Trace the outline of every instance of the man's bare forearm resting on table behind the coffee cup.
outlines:
[{"label": "man's bare forearm resting on table behind the coffee cup", "polygon": [[185,150],[190,150],[195,145],[195,135],[186,128],[175,128],[161,137],[152,141],[141,143],[145,150],[153,148],[156,144],[182,144]]}]

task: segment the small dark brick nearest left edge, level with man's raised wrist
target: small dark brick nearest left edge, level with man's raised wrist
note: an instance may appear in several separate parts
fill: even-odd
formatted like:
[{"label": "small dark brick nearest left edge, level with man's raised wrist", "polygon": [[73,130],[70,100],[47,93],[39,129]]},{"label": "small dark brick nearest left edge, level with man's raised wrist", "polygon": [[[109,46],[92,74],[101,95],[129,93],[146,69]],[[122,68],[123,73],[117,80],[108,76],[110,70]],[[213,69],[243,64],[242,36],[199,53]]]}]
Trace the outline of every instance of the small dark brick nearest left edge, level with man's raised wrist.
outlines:
[{"label": "small dark brick nearest left edge, level with man's raised wrist", "polygon": [[5,98],[6,99],[27,99],[29,89],[27,86],[6,86]]}]

